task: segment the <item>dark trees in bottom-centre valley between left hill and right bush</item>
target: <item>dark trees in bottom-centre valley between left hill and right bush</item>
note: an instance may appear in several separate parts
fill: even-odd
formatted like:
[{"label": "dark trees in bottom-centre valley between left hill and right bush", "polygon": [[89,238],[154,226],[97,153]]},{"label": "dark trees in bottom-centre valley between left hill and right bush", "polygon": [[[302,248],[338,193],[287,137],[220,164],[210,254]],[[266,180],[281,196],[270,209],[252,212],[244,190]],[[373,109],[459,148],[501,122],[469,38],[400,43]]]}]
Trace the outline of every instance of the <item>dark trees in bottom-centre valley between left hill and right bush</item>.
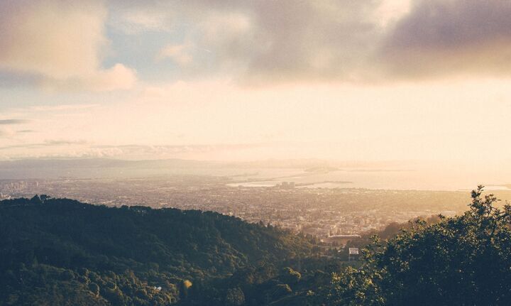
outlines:
[{"label": "dark trees in bottom-centre valley between left hill and right bush", "polygon": [[[300,268],[300,272],[297,269]],[[182,305],[226,305],[229,290],[243,292],[244,305],[324,305],[331,273],[341,265],[334,258],[314,257],[240,268],[229,278],[194,283]]]}]

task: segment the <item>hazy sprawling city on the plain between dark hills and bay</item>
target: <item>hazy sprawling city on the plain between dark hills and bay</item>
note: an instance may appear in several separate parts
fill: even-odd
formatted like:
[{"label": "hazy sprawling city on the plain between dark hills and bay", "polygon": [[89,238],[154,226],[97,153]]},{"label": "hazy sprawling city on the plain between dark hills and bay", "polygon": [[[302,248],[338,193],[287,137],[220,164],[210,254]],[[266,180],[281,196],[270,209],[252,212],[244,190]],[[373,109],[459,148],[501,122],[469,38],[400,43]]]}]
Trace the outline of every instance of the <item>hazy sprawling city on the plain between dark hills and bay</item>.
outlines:
[{"label": "hazy sprawling city on the plain between dark hills and bay", "polygon": [[[2,180],[0,198],[45,194],[111,207],[199,209],[321,238],[362,234],[415,217],[454,216],[468,203],[466,191],[314,188],[295,187],[292,182],[274,187],[231,187],[227,182],[225,177],[192,175],[131,180]],[[504,198],[507,195],[500,193]]]}]

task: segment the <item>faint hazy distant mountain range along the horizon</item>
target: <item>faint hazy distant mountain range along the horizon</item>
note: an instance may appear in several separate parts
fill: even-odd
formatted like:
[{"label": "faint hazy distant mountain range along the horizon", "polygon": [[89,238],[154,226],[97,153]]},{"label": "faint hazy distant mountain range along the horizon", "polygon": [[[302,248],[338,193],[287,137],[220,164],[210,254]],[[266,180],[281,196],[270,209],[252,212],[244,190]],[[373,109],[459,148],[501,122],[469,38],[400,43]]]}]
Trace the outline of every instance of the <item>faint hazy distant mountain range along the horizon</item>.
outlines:
[{"label": "faint hazy distant mountain range along the horizon", "polygon": [[[402,168],[397,162],[331,162],[327,160],[259,160],[251,162],[220,162],[208,160],[118,160],[85,159],[26,159],[1,160],[0,180],[58,177],[149,177],[163,175],[222,175],[221,169],[292,168],[309,171],[339,169]],[[236,175],[239,173],[233,173]]]}]

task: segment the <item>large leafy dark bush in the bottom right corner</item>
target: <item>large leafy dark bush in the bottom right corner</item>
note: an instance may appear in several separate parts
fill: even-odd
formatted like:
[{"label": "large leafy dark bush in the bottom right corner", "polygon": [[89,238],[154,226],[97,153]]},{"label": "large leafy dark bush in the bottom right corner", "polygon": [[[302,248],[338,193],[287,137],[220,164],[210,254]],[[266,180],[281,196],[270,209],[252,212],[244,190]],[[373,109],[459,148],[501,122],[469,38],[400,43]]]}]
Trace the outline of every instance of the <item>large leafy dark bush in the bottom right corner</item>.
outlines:
[{"label": "large leafy dark bush in the bottom right corner", "polygon": [[416,220],[332,278],[331,305],[510,305],[511,207],[483,197],[461,217]]}]

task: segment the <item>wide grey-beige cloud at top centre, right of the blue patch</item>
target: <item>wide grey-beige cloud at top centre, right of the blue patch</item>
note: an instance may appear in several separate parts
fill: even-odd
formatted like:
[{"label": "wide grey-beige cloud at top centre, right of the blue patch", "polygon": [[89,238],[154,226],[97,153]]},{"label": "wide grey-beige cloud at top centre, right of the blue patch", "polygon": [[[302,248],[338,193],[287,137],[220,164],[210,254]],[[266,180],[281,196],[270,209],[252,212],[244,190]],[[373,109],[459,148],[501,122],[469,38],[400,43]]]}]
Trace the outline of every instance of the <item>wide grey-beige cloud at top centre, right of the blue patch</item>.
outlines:
[{"label": "wide grey-beige cloud at top centre, right of the blue patch", "polygon": [[161,31],[168,43],[155,56],[181,65],[184,79],[358,80],[382,31],[380,5],[388,1],[149,2],[151,10],[124,4],[114,15],[138,31]]}]

